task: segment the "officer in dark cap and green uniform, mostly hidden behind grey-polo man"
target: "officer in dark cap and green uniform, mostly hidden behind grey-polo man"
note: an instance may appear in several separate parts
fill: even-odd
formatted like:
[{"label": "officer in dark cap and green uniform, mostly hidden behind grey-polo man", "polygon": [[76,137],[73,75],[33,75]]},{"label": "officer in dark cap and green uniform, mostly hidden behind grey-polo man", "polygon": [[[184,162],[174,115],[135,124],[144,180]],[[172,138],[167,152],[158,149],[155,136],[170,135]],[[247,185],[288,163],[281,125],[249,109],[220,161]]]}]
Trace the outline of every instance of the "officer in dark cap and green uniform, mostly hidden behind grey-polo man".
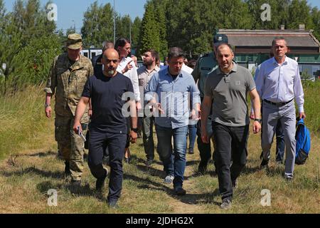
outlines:
[{"label": "officer in dark cap and green uniform, mostly hidden behind grey-polo man", "polygon": [[[228,37],[225,34],[216,34],[213,37],[213,51],[211,53],[206,53],[202,57],[198,58],[195,68],[193,69],[192,76],[196,83],[198,82],[198,89],[200,91],[201,103],[204,97],[205,83],[208,73],[211,73],[216,68],[218,68],[218,62],[215,59],[215,49],[220,43],[228,43]],[[207,122],[208,134],[212,135],[211,127],[211,113],[208,116]],[[201,140],[201,120],[198,121],[197,125],[197,143],[198,150],[200,152],[201,161],[198,167],[198,171],[204,174],[207,171],[207,165],[211,158],[211,146],[210,142],[205,143]]]}]

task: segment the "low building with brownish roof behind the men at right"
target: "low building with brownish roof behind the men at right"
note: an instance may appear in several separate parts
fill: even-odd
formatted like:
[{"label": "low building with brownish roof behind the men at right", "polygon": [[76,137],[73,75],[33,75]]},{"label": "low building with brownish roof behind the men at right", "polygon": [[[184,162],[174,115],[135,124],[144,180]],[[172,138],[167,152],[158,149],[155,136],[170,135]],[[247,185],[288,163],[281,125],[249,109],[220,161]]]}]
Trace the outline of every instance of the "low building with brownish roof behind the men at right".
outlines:
[{"label": "low building with brownish roof behind the men at right", "polygon": [[303,25],[299,30],[220,29],[218,33],[228,36],[235,48],[235,60],[250,71],[269,58],[272,40],[282,36],[289,47],[287,56],[299,63],[300,73],[320,76],[320,43]]}]

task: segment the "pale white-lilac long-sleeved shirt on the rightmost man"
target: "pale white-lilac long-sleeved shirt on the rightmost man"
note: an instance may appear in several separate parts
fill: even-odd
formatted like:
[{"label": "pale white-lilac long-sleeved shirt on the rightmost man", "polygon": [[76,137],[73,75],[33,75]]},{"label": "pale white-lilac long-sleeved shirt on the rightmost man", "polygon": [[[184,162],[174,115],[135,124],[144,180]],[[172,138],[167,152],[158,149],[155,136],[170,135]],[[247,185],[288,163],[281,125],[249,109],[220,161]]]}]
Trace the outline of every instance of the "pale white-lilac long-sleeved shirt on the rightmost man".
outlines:
[{"label": "pale white-lilac long-sleeved shirt on the rightmost man", "polygon": [[263,62],[255,74],[255,84],[262,100],[282,103],[295,98],[299,113],[304,112],[304,90],[299,66],[292,58],[286,57],[282,65],[275,58]]}]

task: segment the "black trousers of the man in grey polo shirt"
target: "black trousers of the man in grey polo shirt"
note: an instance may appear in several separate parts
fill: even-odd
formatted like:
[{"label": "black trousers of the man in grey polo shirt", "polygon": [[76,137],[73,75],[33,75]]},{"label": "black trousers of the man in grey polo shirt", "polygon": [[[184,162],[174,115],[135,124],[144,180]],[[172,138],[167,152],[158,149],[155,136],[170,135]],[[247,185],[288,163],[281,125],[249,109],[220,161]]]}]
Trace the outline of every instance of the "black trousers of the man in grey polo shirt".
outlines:
[{"label": "black trousers of the man in grey polo shirt", "polygon": [[[215,140],[215,171],[218,173],[222,199],[233,199],[233,182],[247,162],[249,125],[229,127],[213,122]],[[233,164],[230,167],[231,160]]]}]

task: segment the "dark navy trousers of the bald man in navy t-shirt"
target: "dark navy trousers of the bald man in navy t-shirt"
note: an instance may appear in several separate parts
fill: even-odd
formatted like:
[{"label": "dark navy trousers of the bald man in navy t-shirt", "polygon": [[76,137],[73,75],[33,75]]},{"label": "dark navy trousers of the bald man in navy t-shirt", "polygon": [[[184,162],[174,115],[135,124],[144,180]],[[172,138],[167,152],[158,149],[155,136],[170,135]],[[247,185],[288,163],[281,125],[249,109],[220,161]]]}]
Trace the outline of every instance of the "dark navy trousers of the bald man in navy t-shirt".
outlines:
[{"label": "dark navy trousers of the bald man in navy t-shirt", "polygon": [[102,159],[106,147],[109,150],[110,157],[110,182],[108,201],[117,201],[121,195],[123,170],[122,159],[124,156],[124,147],[126,143],[126,134],[107,133],[98,128],[90,128],[90,144],[88,165],[95,178],[105,175],[102,166]]}]

